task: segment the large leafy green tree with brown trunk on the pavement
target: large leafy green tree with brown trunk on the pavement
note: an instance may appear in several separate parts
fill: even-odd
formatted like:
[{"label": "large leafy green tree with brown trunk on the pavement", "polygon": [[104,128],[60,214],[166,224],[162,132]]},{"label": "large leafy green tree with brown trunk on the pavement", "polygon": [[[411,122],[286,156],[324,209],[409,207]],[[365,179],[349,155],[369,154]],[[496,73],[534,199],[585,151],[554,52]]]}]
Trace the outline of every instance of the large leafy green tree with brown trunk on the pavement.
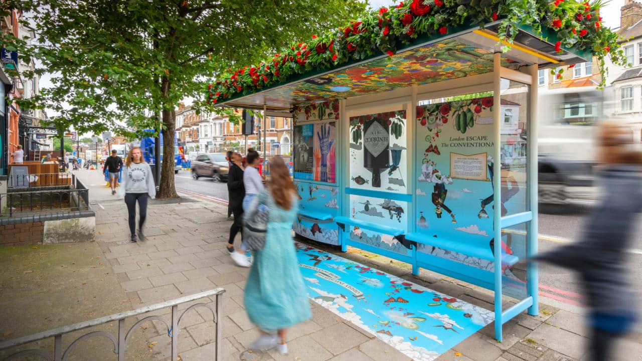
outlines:
[{"label": "large leafy green tree with brown trunk on the pavement", "polygon": [[[157,197],[170,198],[178,197],[172,164],[178,102],[202,99],[207,80],[229,67],[258,62],[284,43],[310,39],[360,15],[365,2],[5,0],[0,15],[10,8],[29,17],[37,41],[8,34],[3,44],[25,60],[39,59],[37,73],[55,74],[52,87],[22,100],[21,107],[58,113],[49,123],[59,130],[110,127],[126,135],[132,128],[160,128],[165,164]],[[205,107],[205,101],[196,106]],[[216,111],[239,121],[231,110]]]}]

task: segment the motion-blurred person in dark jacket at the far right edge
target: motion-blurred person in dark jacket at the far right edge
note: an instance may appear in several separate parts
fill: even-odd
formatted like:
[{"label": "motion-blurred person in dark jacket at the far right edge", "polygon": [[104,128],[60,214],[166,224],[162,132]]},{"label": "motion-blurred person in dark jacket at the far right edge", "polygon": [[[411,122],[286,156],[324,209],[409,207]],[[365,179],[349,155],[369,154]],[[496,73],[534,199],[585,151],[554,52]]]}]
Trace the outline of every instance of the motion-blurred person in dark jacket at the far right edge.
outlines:
[{"label": "motion-blurred person in dark jacket at the far right edge", "polygon": [[589,360],[607,361],[614,342],[632,330],[639,316],[626,250],[636,213],[642,211],[642,155],[632,148],[632,131],[616,123],[605,123],[598,141],[603,199],[588,216],[578,242],[534,260],[578,272],[589,308]]}]

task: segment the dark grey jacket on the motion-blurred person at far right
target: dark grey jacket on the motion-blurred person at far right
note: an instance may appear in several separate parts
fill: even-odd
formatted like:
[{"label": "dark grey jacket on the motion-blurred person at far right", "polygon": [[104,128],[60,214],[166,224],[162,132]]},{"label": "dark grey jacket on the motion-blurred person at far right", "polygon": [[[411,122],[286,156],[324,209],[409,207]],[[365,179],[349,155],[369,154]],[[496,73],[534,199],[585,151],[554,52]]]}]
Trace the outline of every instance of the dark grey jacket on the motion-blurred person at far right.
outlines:
[{"label": "dark grey jacket on the motion-blurred person at far right", "polygon": [[540,254],[535,260],[576,270],[593,312],[636,315],[636,295],[627,265],[636,213],[642,211],[638,166],[611,166],[600,172],[602,199],[587,217],[578,242]]}]

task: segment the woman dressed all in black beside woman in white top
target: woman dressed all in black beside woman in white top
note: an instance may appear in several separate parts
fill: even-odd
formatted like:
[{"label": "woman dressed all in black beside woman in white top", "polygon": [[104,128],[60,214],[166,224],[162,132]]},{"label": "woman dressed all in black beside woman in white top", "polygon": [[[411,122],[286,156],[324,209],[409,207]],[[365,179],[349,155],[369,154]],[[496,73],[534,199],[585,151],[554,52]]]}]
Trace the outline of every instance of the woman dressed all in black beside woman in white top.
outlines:
[{"label": "woman dressed all in black beside woman in white top", "polygon": [[[250,261],[245,252],[247,252],[247,243],[243,242],[243,197],[245,197],[245,186],[243,185],[243,157],[238,153],[231,156],[232,166],[227,175],[227,191],[229,193],[229,206],[232,208],[234,222],[230,226],[230,238],[227,241],[227,251],[230,253],[232,260],[241,267],[250,267]],[[238,250],[234,249],[234,238],[241,232],[241,246]]]}]

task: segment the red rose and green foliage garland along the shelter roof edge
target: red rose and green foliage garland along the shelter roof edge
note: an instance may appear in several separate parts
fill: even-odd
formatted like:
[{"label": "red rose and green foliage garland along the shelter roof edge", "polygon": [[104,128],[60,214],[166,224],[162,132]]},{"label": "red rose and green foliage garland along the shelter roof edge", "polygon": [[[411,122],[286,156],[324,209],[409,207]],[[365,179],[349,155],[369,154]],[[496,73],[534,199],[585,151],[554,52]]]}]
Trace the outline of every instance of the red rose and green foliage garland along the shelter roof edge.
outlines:
[{"label": "red rose and green foliage garland along the shelter roof edge", "polygon": [[[367,12],[360,21],[345,27],[312,35],[275,54],[257,66],[245,66],[223,75],[223,80],[208,85],[212,104],[225,98],[250,94],[279,84],[291,76],[313,69],[331,69],[352,60],[362,60],[377,53],[395,54],[397,46],[409,44],[426,35],[446,35],[461,24],[486,24],[499,20],[499,37],[512,43],[518,29],[515,24],[532,27],[541,35],[541,25],[553,30],[559,39],[555,49],[573,48],[590,51],[598,59],[605,85],[605,58],[625,66],[626,57],[609,28],[603,28],[601,0],[578,3],[574,0],[410,0],[389,8]],[[563,70],[551,71],[561,78]]]}]

